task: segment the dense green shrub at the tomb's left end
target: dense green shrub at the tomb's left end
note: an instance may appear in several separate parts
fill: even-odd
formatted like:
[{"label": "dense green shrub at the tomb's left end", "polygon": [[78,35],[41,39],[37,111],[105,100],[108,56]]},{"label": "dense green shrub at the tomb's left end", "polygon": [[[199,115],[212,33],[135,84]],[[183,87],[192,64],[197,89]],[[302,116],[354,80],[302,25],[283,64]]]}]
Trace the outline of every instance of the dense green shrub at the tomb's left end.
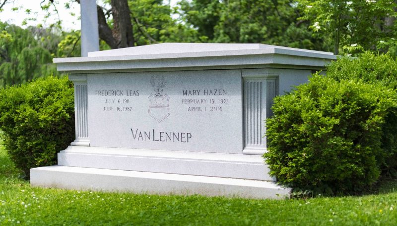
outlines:
[{"label": "dense green shrub at the tomb's left end", "polygon": [[74,138],[73,86],[67,77],[47,77],[0,90],[0,130],[15,165],[56,164],[57,151]]}]

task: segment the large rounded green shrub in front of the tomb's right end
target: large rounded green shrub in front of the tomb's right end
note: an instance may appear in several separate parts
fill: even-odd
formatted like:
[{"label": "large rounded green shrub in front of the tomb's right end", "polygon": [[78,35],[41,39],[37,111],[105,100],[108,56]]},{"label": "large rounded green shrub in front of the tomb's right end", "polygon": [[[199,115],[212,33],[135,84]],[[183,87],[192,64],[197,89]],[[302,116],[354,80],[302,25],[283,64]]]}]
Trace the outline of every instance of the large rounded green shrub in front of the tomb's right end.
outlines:
[{"label": "large rounded green shrub in front of the tomb's right end", "polygon": [[274,99],[268,119],[270,174],[294,187],[358,191],[380,175],[382,126],[397,106],[379,84],[313,75]]}]

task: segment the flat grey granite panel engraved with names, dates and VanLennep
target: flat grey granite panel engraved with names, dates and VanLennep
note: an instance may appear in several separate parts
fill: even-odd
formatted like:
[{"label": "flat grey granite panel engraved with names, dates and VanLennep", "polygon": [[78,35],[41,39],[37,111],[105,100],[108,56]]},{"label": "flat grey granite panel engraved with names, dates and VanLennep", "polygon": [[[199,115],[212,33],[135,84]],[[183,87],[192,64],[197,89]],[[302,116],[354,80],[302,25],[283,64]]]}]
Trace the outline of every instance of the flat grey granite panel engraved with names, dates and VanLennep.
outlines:
[{"label": "flat grey granite panel engraved with names, dates and VanLennep", "polygon": [[241,70],[88,74],[90,146],[241,154]]}]

